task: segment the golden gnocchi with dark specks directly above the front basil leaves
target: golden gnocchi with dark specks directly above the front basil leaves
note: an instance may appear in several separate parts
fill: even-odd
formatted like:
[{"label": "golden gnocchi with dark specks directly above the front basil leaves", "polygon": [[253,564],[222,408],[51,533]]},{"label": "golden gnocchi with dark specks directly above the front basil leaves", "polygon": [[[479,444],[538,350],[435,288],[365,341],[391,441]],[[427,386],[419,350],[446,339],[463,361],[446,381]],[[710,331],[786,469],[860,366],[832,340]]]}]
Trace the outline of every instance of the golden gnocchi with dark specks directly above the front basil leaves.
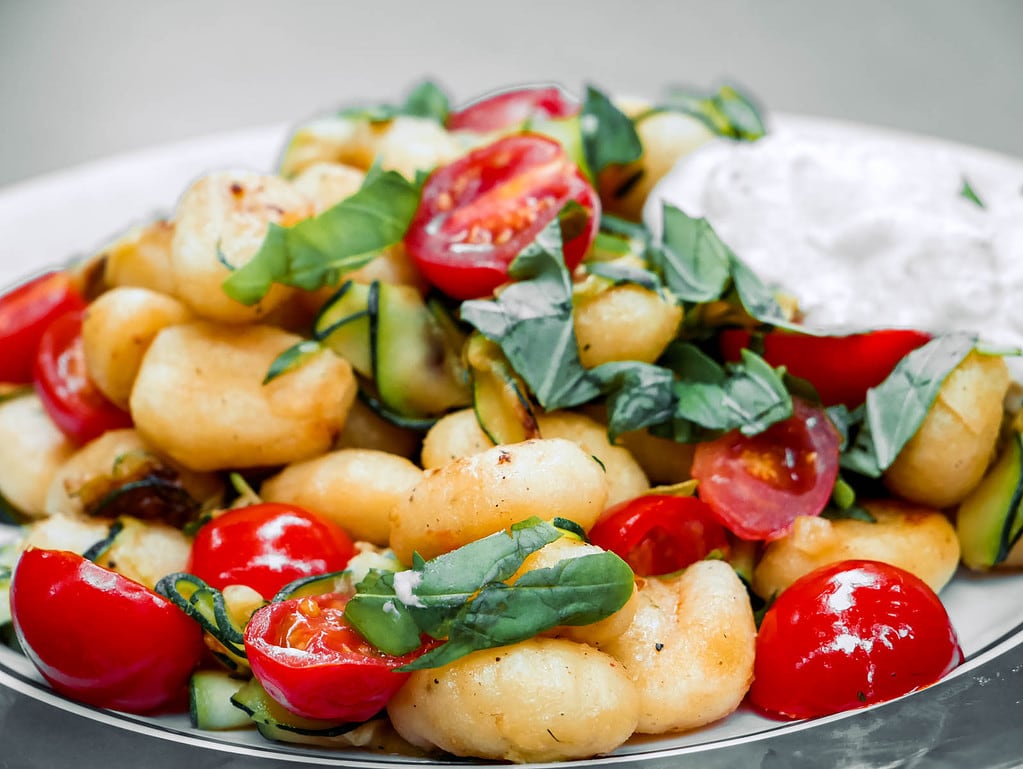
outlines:
[{"label": "golden gnocchi with dark specks directly above the front basil leaves", "polygon": [[495,446],[427,471],[391,513],[391,549],[432,558],[533,515],[589,529],[604,510],[604,469],[563,439]]}]

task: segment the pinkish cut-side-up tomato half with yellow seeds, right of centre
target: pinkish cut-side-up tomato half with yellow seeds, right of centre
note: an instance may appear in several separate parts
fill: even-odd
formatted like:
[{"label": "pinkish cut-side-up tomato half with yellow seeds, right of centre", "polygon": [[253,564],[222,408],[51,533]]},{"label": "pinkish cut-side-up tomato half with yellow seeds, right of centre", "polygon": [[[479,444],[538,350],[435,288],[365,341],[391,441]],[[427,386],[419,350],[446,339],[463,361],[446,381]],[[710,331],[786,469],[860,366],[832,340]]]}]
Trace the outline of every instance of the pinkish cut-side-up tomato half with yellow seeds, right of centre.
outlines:
[{"label": "pinkish cut-side-up tomato half with yellow seeds, right of centre", "polygon": [[763,433],[732,431],[697,445],[700,498],[743,539],[776,539],[799,515],[828,504],[838,477],[840,438],[822,408],[793,399],[793,415]]}]

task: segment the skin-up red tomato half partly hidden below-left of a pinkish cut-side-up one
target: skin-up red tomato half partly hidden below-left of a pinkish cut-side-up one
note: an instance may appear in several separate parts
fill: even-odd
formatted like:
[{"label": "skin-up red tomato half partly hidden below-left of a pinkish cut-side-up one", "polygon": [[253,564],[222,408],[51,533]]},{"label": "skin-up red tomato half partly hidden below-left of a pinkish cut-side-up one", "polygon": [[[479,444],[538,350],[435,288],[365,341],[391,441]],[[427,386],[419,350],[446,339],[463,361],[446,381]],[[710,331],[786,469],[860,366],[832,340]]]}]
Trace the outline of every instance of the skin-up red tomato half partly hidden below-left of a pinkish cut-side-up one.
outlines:
[{"label": "skin-up red tomato half partly hidden below-left of a pinkish cut-side-up one", "polygon": [[671,574],[714,550],[728,553],[728,538],[714,513],[696,497],[648,494],[619,502],[589,532],[597,547],[617,553],[640,577]]}]

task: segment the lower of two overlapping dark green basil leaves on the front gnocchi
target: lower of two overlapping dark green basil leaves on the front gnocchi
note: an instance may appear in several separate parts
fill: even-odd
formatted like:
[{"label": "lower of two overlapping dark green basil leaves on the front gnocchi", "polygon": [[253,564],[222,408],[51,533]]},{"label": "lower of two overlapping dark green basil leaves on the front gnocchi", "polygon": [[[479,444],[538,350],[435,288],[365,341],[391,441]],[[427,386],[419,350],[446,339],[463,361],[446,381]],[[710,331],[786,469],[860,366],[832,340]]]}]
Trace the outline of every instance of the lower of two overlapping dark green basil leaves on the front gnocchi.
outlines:
[{"label": "lower of two overlapping dark green basil leaves on the front gnocchi", "polygon": [[625,605],[633,589],[632,570],[612,552],[566,558],[527,572],[514,585],[488,584],[458,613],[445,643],[398,670],[436,668],[558,625],[597,622]]}]

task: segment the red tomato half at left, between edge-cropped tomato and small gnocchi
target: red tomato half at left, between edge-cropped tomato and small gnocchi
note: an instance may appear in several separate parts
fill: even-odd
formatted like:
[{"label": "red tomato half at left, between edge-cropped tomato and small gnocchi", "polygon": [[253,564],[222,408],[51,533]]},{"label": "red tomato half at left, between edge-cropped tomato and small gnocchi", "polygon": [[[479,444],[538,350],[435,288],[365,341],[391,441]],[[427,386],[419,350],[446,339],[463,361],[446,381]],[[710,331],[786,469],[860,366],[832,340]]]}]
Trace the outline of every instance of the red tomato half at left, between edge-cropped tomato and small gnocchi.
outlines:
[{"label": "red tomato half at left, between edge-cropped tomato and small gnocchi", "polygon": [[89,378],[81,312],[61,315],[47,326],[39,341],[34,377],[46,413],[76,443],[132,425],[131,415],[106,400]]}]

